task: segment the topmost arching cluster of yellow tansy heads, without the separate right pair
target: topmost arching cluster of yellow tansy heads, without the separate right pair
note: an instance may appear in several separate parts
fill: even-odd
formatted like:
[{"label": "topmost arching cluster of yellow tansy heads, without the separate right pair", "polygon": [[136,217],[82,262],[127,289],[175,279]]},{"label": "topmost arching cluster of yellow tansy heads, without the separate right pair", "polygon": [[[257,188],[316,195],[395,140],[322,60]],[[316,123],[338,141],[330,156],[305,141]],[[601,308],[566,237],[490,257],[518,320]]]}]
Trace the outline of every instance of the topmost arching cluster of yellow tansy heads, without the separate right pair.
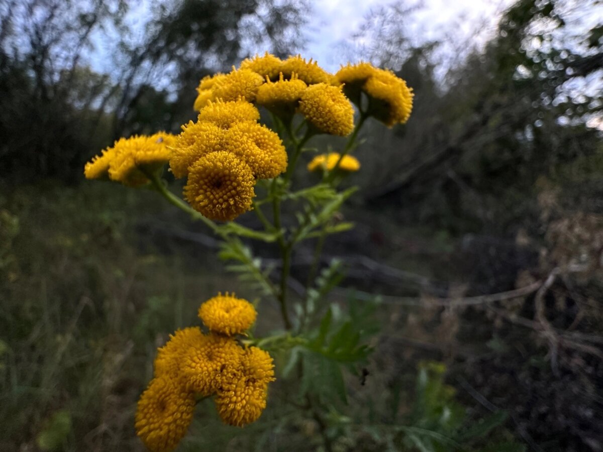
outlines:
[{"label": "topmost arching cluster of yellow tansy heads, without the separate right pair", "polygon": [[203,78],[194,108],[244,97],[284,118],[301,113],[316,133],[346,136],[354,128],[354,108],[334,82],[316,61],[300,55],[281,60],[266,52],[242,61],[229,74]]}]

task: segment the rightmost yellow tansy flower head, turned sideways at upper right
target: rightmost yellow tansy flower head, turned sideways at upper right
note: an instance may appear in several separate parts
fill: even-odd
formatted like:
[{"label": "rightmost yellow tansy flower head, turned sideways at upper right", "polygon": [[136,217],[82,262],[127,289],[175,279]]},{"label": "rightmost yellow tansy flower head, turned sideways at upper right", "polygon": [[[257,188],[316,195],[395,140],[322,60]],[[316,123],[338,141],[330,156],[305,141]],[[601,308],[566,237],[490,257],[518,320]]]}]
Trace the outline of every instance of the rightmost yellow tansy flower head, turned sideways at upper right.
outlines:
[{"label": "rightmost yellow tansy flower head, turned sideways at upper right", "polygon": [[376,69],[364,84],[369,96],[368,113],[388,127],[404,124],[412,111],[412,91],[391,71]]}]

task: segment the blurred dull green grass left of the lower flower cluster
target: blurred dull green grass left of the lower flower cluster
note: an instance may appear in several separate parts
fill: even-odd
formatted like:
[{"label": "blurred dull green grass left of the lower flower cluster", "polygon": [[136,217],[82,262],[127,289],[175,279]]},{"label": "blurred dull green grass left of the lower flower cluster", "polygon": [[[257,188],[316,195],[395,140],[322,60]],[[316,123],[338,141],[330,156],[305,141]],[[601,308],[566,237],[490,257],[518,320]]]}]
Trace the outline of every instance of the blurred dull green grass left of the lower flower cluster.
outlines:
[{"label": "blurred dull green grass left of the lower flower cluster", "polygon": [[0,199],[0,450],[141,449],[133,412],[156,347],[201,301],[237,289],[211,259],[192,268],[140,241],[136,222],[164,215],[161,201],[112,184]]}]

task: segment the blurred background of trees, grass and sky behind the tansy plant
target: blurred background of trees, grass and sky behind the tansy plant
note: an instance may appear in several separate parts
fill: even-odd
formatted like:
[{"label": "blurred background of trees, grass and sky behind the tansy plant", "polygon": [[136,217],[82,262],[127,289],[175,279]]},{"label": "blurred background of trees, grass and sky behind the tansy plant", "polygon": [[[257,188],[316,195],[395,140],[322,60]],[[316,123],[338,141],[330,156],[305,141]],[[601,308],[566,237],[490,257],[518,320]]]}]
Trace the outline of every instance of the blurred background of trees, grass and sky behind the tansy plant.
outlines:
[{"label": "blurred background of trees, grass and sky behind the tansy plant", "polygon": [[335,301],[376,304],[380,332],[326,431],[277,381],[244,430],[200,404],[180,450],[452,450],[369,427],[499,410],[484,450],[603,450],[603,2],[326,3],[0,0],[0,450],[142,450],[156,347],[218,290],[253,298],[209,231],[83,165],[178,133],[201,77],[264,51],[368,60],[414,89],[408,124],[364,128],[356,228],[325,247],[346,264]]}]

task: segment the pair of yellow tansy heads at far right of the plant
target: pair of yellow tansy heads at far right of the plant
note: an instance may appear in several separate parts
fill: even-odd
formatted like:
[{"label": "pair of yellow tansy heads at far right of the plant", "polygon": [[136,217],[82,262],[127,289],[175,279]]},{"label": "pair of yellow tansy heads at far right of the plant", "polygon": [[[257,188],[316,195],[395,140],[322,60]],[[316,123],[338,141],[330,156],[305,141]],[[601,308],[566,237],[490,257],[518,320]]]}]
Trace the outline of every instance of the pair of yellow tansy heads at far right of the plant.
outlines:
[{"label": "pair of yellow tansy heads at far right of the plant", "polygon": [[391,71],[370,63],[347,64],[335,74],[344,93],[358,107],[361,93],[368,97],[367,113],[388,127],[404,124],[412,111],[412,90]]}]

